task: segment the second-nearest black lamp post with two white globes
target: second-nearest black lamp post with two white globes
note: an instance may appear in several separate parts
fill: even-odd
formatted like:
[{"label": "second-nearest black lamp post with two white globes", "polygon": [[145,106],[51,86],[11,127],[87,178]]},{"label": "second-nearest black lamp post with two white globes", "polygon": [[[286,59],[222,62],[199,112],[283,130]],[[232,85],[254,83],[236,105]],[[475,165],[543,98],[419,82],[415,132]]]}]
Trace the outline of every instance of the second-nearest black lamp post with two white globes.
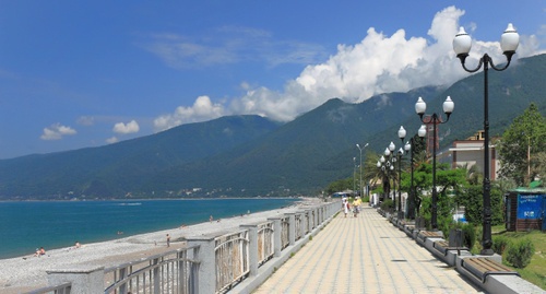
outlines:
[{"label": "second-nearest black lamp post with two white globes", "polygon": [[443,113],[446,114],[446,121],[441,119],[440,116],[438,116],[436,113],[432,114],[431,116],[428,117],[427,119],[424,119],[425,110],[427,109],[427,104],[423,101],[422,97],[417,101],[415,104],[415,111],[417,115],[420,117],[420,121],[424,124],[432,124],[432,132],[434,132],[434,141],[432,141],[432,220],[431,226],[432,231],[438,231],[438,192],[436,190],[436,125],[439,124],[446,124],[449,120],[449,117],[451,116],[451,113],[453,113],[453,108],[455,107],[455,104],[451,101],[451,97],[448,96],[446,102],[443,102]]}]

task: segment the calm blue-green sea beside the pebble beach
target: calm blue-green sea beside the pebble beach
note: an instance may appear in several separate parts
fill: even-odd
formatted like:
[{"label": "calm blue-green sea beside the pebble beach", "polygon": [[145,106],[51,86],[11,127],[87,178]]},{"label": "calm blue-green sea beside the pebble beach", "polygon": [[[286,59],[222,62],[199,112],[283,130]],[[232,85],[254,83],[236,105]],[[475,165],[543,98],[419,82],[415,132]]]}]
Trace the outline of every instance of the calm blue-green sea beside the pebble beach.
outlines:
[{"label": "calm blue-green sea beside the pebble beach", "polygon": [[[297,199],[0,202],[0,259],[273,210]],[[118,232],[123,232],[118,235]]]}]

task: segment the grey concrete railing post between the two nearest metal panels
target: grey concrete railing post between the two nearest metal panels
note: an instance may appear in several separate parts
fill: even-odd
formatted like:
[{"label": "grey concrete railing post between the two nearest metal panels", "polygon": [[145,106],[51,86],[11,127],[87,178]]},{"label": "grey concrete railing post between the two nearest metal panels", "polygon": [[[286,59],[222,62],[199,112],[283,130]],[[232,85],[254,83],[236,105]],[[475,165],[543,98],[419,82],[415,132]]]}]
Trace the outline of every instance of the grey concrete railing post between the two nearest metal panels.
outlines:
[{"label": "grey concrete railing post between the two nearest metal panels", "polygon": [[199,263],[194,293],[216,293],[216,244],[215,236],[195,236],[187,239],[188,247],[199,246],[194,259]]}]

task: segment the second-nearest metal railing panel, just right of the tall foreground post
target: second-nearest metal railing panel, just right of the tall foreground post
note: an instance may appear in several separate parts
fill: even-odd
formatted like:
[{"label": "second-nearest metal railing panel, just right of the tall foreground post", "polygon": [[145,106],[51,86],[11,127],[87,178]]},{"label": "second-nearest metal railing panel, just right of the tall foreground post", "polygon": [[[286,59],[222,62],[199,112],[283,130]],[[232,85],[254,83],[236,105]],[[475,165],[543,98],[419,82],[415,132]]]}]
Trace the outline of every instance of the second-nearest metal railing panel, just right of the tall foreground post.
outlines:
[{"label": "second-nearest metal railing panel, just right of the tall foreground post", "polygon": [[249,272],[248,231],[215,239],[216,292],[224,292]]}]

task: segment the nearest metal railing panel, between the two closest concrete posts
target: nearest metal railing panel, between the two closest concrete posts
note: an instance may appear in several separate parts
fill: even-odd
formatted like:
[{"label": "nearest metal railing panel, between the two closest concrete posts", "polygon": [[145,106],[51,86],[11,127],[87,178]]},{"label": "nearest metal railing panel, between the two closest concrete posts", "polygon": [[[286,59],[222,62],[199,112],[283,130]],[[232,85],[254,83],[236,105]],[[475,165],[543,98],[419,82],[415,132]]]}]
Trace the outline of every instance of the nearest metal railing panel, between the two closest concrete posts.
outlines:
[{"label": "nearest metal railing panel, between the two closest concrete posts", "polygon": [[105,293],[194,293],[199,263],[191,259],[194,249],[174,250],[105,269]]}]

